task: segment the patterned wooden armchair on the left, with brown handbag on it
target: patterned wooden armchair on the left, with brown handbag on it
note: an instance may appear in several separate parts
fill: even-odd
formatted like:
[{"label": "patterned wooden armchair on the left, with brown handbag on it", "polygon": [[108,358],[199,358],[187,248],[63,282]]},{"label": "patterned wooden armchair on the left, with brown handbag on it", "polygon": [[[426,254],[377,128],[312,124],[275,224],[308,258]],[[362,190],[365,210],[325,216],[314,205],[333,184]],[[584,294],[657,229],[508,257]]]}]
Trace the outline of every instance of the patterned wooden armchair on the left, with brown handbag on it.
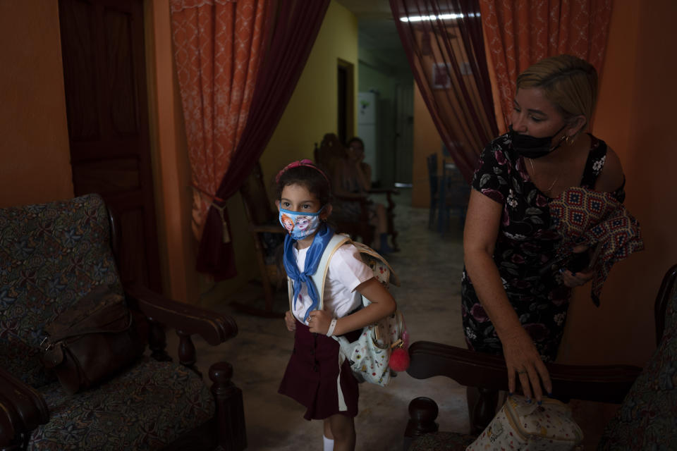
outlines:
[{"label": "patterned wooden armchair on the left, with brown handbag on it", "polygon": [[[114,236],[114,234],[113,234]],[[195,366],[192,336],[219,345],[228,316],[123,287],[109,212],[97,194],[0,209],[1,450],[243,450],[241,391],[227,362]],[[126,297],[147,351],[98,385],[68,395],[40,361],[45,326],[97,285]],[[178,334],[178,360],[165,350]]]}]

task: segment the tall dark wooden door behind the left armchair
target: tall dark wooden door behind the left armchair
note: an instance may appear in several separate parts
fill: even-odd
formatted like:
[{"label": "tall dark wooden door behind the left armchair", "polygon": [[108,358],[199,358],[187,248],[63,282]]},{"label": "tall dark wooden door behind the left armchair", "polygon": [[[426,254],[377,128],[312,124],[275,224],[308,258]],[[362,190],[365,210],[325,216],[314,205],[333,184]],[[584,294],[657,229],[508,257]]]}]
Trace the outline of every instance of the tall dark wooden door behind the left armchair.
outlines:
[{"label": "tall dark wooden door behind the left armchair", "polygon": [[59,20],[75,195],[104,197],[123,280],[159,291],[142,0],[59,0]]}]

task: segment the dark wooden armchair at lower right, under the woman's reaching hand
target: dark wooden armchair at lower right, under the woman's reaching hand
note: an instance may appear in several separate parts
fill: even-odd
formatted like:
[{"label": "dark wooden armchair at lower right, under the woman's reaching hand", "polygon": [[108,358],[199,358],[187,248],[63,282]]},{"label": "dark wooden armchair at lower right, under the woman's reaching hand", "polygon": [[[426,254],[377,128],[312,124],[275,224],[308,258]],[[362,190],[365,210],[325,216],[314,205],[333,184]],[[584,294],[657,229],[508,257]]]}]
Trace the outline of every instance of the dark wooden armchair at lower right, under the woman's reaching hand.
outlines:
[{"label": "dark wooden armchair at lower right, under the woman's reaching hand", "polygon": [[[553,393],[571,399],[620,404],[604,428],[598,449],[604,451],[672,450],[677,443],[677,265],[664,276],[654,304],[657,350],[644,369],[627,365],[573,366],[546,364]],[[470,433],[438,431],[437,403],[417,397],[409,404],[404,450],[465,450],[494,416],[496,390],[507,390],[502,357],[434,342],[409,348],[410,376],[447,376],[479,389],[470,408]]]}]

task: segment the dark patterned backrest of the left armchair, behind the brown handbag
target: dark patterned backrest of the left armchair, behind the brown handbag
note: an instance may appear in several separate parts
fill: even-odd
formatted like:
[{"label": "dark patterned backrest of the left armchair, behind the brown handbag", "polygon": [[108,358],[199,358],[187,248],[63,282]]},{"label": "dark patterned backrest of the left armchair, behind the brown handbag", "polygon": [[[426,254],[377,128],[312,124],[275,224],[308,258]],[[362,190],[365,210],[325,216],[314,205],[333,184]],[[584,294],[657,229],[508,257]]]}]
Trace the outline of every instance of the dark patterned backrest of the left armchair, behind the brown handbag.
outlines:
[{"label": "dark patterned backrest of the left armchair, behind the brown handbag", "polygon": [[44,325],[90,292],[115,285],[104,201],[97,194],[0,209],[0,364],[39,387]]}]

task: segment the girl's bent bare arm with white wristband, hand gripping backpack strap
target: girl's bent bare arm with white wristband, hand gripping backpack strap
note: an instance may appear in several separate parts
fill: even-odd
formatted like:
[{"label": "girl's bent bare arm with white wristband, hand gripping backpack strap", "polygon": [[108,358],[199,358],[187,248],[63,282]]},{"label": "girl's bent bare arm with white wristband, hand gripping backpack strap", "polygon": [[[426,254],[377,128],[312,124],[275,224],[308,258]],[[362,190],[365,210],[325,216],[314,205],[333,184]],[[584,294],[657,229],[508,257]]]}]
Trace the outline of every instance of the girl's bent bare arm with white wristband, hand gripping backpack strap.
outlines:
[{"label": "girl's bent bare arm with white wristband, hand gripping backpack strap", "polygon": [[[376,279],[370,278],[360,283],[355,291],[372,303],[367,307],[355,311],[348,316],[343,316],[336,321],[334,335],[343,335],[353,330],[361,329],[368,324],[375,323],[382,318],[392,314],[397,309],[395,299],[390,292]],[[325,334],[329,330],[331,315],[324,310],[313,310],[310,312],[310,332]]]}]

